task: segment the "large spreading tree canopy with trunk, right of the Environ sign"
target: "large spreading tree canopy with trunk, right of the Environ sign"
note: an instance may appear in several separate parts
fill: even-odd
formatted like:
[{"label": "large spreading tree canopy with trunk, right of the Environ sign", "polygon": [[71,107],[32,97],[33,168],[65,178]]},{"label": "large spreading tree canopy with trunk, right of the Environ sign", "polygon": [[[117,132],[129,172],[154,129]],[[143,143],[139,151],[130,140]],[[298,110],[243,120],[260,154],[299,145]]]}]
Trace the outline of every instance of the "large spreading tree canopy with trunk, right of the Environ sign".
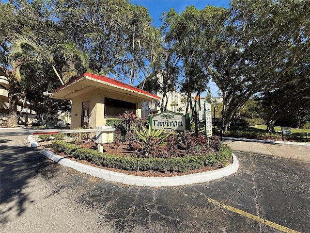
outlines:
[{"label": "large spreading tree canopy with trunk, right of the Environ sign", "polygon": [[[198,95],[211,78],[223,96],[222,129],[257,93],[308,77],[310,2],[232,0],[230,9],[165,13],[166,37],[182,59],[181,90]],[[293,71],[302,66],[303,70]],[[294,75],[293,75],[294,73]],[[285,95],[286,92],[281,92]],[[269,129],[268,129],[269,130]]]}]

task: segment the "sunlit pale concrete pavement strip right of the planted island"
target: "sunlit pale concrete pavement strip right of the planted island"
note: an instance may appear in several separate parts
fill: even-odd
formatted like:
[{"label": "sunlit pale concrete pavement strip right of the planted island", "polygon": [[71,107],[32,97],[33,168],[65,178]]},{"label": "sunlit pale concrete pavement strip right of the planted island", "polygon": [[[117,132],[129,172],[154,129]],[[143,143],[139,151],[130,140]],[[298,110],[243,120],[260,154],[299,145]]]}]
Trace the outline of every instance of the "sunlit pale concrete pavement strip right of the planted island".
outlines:
[{"label": "sunlit pale concrete pavement strip right of the planted island", "polygon": [[310,144],[298,145],[294,143],[277,143],[261,141],[240,141],[224,139],[223,143],[229,145],[233,151],[240,151],[253,154],[278,156],[287,159],[294,159],[310,163]]}]

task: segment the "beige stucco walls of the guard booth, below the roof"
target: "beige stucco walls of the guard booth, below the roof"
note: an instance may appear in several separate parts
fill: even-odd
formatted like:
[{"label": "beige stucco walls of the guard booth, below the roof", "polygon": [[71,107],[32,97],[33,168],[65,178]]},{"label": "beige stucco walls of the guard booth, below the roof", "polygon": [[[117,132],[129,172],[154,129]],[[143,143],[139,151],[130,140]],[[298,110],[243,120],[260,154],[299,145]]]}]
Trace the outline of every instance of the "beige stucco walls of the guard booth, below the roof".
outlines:
[{"label": "beige stucco walls of the guard booth, below the roof", "polygon": [[125,95],[119,92],[112,92],[102,89],[96,89],[94,91],[78,95],[72,99],[71,108],[71,129],[81,127],[82,117],[82,102],[90,101],[90,116],[89,116],[89,127],[96,128],[97,126],[103,126],[106,123],[104,118],[104,100],[105,97],[124,100],[128,102],[138,103],[136,114],[141,116],[141,100],[139,98]]}]

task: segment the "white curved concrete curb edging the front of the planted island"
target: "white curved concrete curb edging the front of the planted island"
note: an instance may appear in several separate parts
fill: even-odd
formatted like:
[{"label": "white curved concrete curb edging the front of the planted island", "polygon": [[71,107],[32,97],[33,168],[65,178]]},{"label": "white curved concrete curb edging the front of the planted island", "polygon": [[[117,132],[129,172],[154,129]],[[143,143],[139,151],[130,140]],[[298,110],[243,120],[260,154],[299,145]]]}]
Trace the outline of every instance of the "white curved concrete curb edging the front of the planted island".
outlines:
[{"label": "white curved concrete curb edging the front of the planted island", "polygon": [[127,175],[124,173],[109,171],[94,166],[66,159],[58,154],[51,152],[50,150],[43,150],[41,154],[45,155],[48,159],[51,159],[62,166],[71,167],[79,172],[83,172],[94,177],[98,177],[107,181],[118,182],[126,185],[135,186],[148,186],[148,187],[167,187],[167,186],[182,186],[195,183],[205,183],[212,180],[217,180],[233,173],[237,172],[239,168],[239,162],[237,157],[233,154],[233,164],[229,166],[202,173],[173,176],[173,177],[142,177]]}]

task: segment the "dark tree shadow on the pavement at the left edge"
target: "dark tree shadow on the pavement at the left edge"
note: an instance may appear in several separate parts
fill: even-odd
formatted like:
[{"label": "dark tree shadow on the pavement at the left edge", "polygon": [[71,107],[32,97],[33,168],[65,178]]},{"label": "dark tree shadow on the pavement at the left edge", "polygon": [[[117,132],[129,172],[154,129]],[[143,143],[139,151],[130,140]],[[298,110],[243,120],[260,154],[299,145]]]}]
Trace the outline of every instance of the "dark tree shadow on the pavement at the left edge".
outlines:
[{"label": "dark tree shadow on the pavement at the left edge", "polygon": [[31,187],[31,179],[38,175],[46,176],[50,165],[55,162],[41,155],[41,149],[30,148],[20,142],[14,146],[13,141],[7,139],[1,139],[0,143],[0,222],[4,223],[8,221],[7,212],[13,208],[16,209],[17,216],[22,215],[25,203],[31,202],[29,194],[25,192],[25,189]]}]

